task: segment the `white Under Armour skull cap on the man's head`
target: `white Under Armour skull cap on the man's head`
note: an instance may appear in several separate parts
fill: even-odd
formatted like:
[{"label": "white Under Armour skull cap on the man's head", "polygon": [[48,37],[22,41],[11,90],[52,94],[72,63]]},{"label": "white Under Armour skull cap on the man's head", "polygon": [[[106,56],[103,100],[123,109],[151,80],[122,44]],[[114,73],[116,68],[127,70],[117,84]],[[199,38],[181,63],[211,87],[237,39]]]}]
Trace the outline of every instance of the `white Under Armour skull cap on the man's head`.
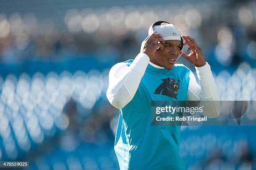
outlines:
[{"label": "white Under Armour skull cap on the man's head", "polygon": [[[153,24],[152,24],[153,25]],[[159,33],[164,41],[166,40],[179,40],[180,41],[180,33],[173,24],[165,24],[165,25],[154,25],[152,29],[152,25],[148,29],[148,36],[150,36],[154,31]]]}]

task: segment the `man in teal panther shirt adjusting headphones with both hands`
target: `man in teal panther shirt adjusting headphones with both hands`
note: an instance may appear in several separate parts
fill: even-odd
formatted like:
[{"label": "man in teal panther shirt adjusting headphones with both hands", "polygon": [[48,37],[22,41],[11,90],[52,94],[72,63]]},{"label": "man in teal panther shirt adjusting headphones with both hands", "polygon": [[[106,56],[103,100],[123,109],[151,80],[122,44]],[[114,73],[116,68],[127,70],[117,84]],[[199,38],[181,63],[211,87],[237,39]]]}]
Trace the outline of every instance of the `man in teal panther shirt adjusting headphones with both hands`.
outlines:
[{"label": "man in teal panther shirt adjusting headphones with both hands", "polygon": [[[185,169],[179,155],[180,126],[151,126],[151,101],[219,100],[201,48],[195,39],[182,38],[183,46],[189,46],[189,55],[181,51],[183,42],[177,28],[158,21],[149,28],[136,58],[117,63],[110,70],[107,97],[120,109],[114,148],[121,170]],[[195,65],[201,87],[187,67],[175,64],[180,54]],[[158,90],[165,80],[175,82],[173,93]],[[212,107],[216,112],[208,117],[218,117],[216,103]]]}]

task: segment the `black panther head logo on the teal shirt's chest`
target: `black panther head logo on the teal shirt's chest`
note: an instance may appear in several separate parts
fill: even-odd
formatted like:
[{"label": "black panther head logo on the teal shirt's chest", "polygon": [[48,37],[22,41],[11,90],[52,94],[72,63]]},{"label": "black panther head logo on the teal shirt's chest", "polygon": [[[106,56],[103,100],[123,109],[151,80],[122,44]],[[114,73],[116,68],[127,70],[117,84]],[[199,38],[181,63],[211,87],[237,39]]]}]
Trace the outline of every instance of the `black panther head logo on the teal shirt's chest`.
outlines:
[{"label": "black panther head logo on the teal shirt's chest", "polygon": [[168,77],[167,79],[162,79],[162,81],[164,82],[157,87],[154,94],[162,94],[177,99],[179,80],[174,80]]}]

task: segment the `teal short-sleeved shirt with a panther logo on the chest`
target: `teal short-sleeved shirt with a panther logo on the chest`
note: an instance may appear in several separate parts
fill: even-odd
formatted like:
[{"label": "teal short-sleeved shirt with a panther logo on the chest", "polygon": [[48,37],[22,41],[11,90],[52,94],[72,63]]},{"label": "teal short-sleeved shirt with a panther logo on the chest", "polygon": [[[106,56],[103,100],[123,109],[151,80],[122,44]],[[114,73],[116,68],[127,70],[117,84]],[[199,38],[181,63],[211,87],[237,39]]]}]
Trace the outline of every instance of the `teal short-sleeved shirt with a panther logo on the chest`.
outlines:
[{"label": "teal short-sleeved shirt with a panther logo on the chest", "polygon": [[[119,110],[114,148],[121,170],[186,169],[179,154],[180,126],[152,126],[151,101],[186,101],[189,72],[182,64],[172,70],[148,64],[133,99]],[[164,81],[172,84],[172,91],[164,88]]]}]

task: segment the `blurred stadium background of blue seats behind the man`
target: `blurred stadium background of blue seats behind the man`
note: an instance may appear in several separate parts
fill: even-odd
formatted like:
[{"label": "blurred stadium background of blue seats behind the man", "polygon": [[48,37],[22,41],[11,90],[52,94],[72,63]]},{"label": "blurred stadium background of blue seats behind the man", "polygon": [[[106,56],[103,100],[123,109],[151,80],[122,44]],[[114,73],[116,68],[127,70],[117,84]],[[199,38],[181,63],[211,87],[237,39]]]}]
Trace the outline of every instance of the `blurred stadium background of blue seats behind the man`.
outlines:
[{"label": "blurred stadium background of blue seats behind the man", "polygon": [[[195,38],[221,100],[251,101],[244,116],[256,119],[255,1],[2,0],[0,160],[30,161],[31,170],[119,169],[108,72],[135,58],[156,20]],[[195,73],[184,58],[177,63]],[[255,134],[254,126],[182,127],[180,153],[188,170],[256,169]]]}]

